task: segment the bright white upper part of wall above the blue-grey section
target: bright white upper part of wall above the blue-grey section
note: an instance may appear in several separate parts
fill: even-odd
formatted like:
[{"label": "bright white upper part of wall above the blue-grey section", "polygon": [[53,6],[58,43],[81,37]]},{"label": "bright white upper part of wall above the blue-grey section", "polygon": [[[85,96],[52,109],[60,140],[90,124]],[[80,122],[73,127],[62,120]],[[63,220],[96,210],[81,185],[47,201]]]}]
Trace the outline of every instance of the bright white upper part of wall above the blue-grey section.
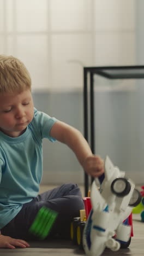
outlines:
[{"label": "bright white upper part of wall above the blue-grey section", "polygon": [[37,91],[82,91],[82,66],[135,63],[135,0],[0,0],[0,51]]}]

